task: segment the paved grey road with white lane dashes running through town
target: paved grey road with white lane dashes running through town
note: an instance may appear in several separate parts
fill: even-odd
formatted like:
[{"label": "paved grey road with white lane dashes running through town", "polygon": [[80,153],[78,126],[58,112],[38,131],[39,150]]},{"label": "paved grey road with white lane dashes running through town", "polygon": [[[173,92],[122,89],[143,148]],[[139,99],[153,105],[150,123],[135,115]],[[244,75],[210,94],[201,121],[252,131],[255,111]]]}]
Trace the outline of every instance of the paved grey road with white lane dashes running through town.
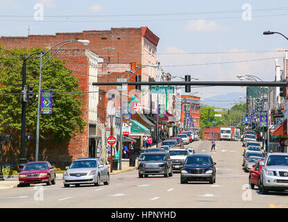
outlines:
[{"label": "paved grey road with white lane dashes running through town", "polygon": [[137,171],[110,178],[110,185],[64,188],[62,180],[46,187],[35,185],[0,190],[0,207],[110,207],[110,208],[229,208],[288,207],[288,193],[258,194],[248,189],[248,173],[242,170],[242,144],[217,142],[210,152],[210,142],[194,142],[196,153],[212,154],[217,162],[214,185],[205,182],[180,184],[180,173],[171,178],[151,176],[138,178]]}]

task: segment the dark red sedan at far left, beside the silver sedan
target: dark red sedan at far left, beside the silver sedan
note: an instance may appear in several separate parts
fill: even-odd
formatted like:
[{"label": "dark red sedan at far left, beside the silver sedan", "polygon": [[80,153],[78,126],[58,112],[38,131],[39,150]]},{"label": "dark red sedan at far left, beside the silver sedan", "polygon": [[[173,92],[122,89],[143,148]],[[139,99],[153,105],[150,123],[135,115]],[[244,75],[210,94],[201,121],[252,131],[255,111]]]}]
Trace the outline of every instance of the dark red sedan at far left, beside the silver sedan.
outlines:
[{"label": "dark red sedan at far left, beside the silver sedan", "polygon": [[49,162],[28,162],[19,173],[18,187],[29,186],[31,183],[46,183],[47,186],[55,185],[56,173]]}]

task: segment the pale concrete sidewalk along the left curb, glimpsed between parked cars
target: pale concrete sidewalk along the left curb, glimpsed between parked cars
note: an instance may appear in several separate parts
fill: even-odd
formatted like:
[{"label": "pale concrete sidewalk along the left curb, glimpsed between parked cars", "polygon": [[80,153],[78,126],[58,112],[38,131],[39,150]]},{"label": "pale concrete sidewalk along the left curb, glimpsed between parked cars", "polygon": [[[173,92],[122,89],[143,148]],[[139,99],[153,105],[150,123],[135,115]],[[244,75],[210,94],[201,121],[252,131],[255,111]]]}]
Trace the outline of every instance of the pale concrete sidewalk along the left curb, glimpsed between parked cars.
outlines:
[{"label": "pale concrete sidewalk along the left curb, glimpsed between parked cars", "polygon": [[[136,166],[136,164],[135,164]],[[110,173],[110,164],[107,165],[109,173]],[[121,161],[121,170],[119,170],[119,164],[118,164],[118,170],[113,170],[110,175],[115,175],[118,173],[124,173],[128,171],[133,171],[137,167],[129,167],[129,159],[122,159]],[[56,173],[56,178],[62,179],[62,173]],[[4,176],[5,180],[0,180],[0,190],[1,189],[11,189],[17,187],[19,184],[18,182],[18,176]]]}]

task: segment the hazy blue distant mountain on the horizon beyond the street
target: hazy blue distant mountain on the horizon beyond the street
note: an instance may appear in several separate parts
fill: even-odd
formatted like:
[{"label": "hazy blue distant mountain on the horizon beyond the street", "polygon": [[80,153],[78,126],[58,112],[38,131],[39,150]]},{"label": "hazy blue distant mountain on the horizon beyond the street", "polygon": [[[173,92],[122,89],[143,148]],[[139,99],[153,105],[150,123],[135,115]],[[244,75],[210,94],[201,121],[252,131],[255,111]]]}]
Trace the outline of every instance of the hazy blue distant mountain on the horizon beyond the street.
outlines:
[{"label": "hazy blue distant mountain on the horizon beyond the street", "polygon": [[228,94],[211,96],[211,97],[203,98],[202,103],[203,105],[215,106],[217,108],[231,108],[233,105],[237,104],[236,101],[246,103],[246,98],[239,99],[239,96],[246,96],[246,94],[233,92],[233,93],[228,93]]}]

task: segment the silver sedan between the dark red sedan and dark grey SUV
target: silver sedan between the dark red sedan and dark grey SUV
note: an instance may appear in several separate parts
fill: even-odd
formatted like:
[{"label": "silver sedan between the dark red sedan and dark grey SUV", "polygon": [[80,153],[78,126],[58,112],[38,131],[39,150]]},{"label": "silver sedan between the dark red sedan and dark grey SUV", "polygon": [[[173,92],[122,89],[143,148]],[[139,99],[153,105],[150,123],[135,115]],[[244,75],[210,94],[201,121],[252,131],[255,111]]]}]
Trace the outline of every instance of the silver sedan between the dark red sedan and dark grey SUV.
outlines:
[{"label": "silver sedan between the dark red sedan and dark grey SUV", "polygon": [[104,185],[109,184],[110,175],[108,167],[104,165],[99,158],[79,158],[74,160],[67,171],[63,173],[64,187],[81,184],[94,184],[99,186],[101,182]]}]

